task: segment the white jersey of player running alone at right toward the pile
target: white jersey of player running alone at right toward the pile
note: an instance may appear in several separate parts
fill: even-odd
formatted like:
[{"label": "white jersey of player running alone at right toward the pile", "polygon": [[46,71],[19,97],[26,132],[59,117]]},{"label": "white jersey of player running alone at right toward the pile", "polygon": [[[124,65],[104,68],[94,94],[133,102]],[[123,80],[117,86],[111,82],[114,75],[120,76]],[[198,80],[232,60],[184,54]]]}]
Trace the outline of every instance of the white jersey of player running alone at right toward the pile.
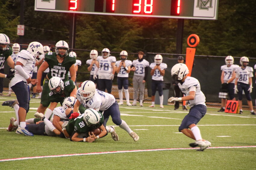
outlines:
[{"label": "white jersey of player running alone at right toward the pile", "polygon": [[196,88],[195,99],[187,101],[187,103],[189,104],[189,107],[193,107],[198,104],[203,104],[206,106],[205,96],[204,96],[203,92],[201,91],[200,83],[196,78],[188,76],[185,79],[185,81],[183,82],[183,84],[178,83],[178,85],[179,85],[181,92],[184,94],[184,96],[189,95],[189,91],[190,91],[189,88],[191,88],[191,87]]}]

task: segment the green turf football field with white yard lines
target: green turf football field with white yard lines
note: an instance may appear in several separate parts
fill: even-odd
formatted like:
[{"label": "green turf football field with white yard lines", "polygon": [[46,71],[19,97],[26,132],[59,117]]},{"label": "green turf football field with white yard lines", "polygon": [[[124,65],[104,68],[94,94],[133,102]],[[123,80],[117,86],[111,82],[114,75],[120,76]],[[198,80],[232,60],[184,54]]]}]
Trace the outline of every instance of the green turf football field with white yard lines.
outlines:
[{"label": "green turf football field with white yard lines", "polygon": [[[6,128],[14,109],[2,106],[12,97],[0,97],[0,169],[255,169],[256,116],[217,112],[209,108],[198,123],[201,135],[212,146],[203,152],[190,148],[194,142],[178,131],[188,111],[164,108],[120,106],[121,119],[139,135],[133,139],[115,126],[120,141],[108,134],[93,143],[71,142],[49,136],[23,136]],[[33,118],[40,99],[30,101],[27,118]],[[137,104],[138,105],[138,104]],[[107,125],[115,125],[109,118]]]}]

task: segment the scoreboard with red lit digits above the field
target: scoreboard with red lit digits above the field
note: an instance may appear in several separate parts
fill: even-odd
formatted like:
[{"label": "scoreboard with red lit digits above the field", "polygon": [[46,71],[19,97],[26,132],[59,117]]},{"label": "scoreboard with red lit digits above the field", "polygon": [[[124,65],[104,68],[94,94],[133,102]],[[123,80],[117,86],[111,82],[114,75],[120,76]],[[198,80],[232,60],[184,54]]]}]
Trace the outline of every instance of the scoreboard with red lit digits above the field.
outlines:
[{"label": "scoreboard with red lit digits above the field", "polygon": [[35,0],[35,10],[100,15],[217,19],[218,0]]}]

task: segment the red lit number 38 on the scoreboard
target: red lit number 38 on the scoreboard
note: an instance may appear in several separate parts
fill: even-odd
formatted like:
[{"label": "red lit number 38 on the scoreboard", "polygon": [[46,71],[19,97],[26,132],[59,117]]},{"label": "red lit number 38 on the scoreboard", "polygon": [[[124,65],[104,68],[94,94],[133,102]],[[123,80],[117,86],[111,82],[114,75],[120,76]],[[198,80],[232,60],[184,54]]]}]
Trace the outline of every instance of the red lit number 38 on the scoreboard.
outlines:
[{"label": "red lit number 38 on the scoreboard", "polygon": [[[144,4],[142,4],[144,1]],[[144,14],[152,14],[153,13],[153,1],[154,0],[133,0],[133,14],[141,14],[143,11]]]}]

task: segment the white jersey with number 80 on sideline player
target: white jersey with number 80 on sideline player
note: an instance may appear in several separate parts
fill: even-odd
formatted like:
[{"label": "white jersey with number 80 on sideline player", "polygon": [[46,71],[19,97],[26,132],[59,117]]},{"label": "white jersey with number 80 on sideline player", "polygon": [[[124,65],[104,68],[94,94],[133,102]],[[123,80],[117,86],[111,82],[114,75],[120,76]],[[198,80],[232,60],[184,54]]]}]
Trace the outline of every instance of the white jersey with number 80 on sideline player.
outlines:
[{"label": "white jersey with number 80 on sideline player", "polygon": [[253,68],[252,67],[239,67],[236,69],[236,78],[238,78],[237,82],[249,84],[249,78],[253,77]]}]

